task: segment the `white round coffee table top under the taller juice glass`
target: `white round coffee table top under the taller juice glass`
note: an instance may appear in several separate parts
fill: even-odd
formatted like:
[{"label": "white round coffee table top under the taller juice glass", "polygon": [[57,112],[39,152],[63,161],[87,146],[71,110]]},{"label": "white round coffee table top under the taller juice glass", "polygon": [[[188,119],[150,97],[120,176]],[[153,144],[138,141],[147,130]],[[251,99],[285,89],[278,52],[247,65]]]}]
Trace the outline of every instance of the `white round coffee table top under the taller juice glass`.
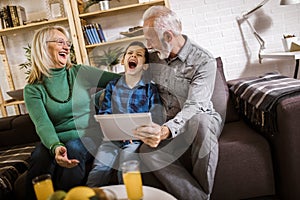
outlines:
[{"label": "white round coffee table top under the taller juice glass", "polygon": [[[110,185],[101,188],[112,190],[117,195],[118,200],[127,200],[125,185]],[[143,186],[143,193],[143,200],[176,200],[176,198],[169,193],[150,186]]]}]

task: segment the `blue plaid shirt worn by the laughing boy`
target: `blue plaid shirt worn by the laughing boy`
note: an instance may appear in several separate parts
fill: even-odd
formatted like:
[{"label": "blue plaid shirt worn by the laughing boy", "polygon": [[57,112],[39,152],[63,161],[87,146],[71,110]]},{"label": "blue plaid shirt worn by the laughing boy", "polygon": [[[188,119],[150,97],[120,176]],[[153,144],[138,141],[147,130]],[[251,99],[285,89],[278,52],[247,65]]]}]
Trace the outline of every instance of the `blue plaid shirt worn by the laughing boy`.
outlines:
[{"label": "blue plaid shirt worn by the laughing boy", "polygon": [[134,88],[129,88],[125,76],[110,81],[105,88],[105,97],[98,114],[151,112],[152,120],[163,121],[159,93],[153,83],[141,79]]}]

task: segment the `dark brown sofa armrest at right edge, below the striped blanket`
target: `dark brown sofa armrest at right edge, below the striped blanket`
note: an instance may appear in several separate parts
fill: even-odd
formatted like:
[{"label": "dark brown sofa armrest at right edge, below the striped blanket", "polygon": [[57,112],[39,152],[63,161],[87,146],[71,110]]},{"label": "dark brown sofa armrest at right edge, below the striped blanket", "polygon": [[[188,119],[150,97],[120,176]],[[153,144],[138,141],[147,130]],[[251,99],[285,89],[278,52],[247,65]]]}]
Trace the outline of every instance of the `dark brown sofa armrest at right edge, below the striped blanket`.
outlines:
[{"label": "dark brown sofa armrest at right edge, below the striped blanket", "polygon": [[300,198],[300,95],[277,105],[277,127],[272,139],[278,166],[279,194],[282,199]]}]

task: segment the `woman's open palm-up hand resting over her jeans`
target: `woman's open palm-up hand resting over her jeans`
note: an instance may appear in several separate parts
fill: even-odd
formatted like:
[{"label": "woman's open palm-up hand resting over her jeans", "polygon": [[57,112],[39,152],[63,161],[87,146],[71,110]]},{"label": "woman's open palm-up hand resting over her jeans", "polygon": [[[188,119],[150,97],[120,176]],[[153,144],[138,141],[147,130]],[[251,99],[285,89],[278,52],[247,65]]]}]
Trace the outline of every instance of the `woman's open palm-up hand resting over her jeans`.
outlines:
[{"label": "woman's open palm-up hand resting over her jeans", "polygon": [[79,161],[76,159],[68,159],[67,148],[64,146],[58,146],[55,149],[55,160],[61,167],[72,168],[78,165]]}]

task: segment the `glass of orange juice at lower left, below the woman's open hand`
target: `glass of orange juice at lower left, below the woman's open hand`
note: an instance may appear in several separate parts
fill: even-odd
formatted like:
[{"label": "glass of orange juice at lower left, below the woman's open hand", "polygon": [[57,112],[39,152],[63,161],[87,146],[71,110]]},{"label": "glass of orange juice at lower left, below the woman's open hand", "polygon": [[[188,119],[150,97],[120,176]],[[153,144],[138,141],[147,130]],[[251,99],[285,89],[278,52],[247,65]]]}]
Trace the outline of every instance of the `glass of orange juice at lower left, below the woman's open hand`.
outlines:
[{"label": "glass of orange juice at lower left, below the woman's open hand", "polygon": [[43,174],[32,179],[37,200],[47,200],[54,192],[50,174]]}]

